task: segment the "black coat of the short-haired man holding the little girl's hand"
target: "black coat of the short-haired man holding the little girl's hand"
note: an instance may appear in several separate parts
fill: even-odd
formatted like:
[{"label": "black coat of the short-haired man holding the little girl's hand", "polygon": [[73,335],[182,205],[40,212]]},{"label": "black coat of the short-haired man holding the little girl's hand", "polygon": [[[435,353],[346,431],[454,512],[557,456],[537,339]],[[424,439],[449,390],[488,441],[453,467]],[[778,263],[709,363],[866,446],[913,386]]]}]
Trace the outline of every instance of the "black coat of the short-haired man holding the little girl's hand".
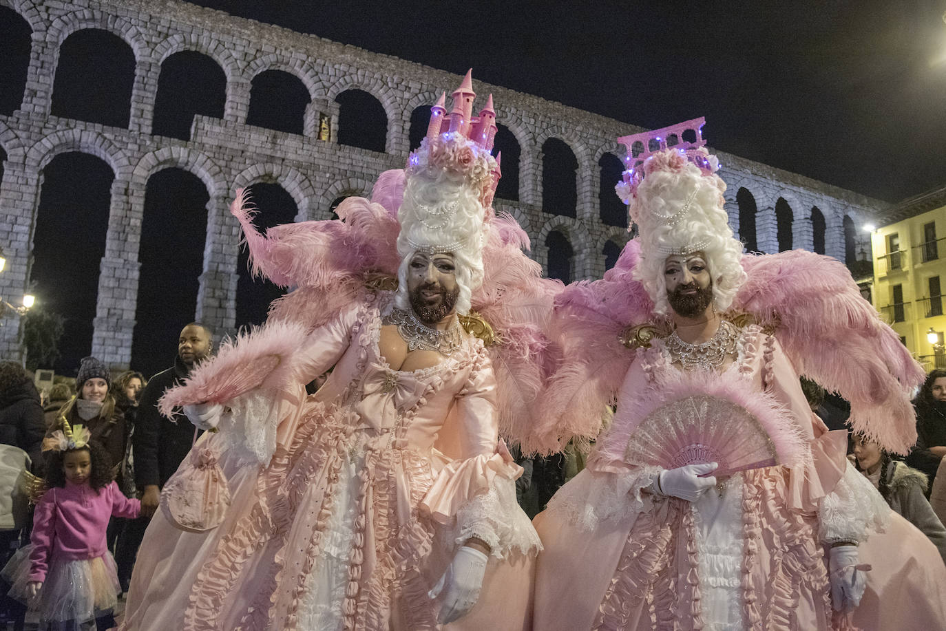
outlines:
[{"label": "black coat of the short-haired man holding the little girl's hand", "polygon": [[188,371],[187,364],[176,358],[173,367],[151,377],[141,391],[131,437],[134,481],[140,491],[149,484],[164,486],[194,442],[194,426],[184,414],[175,413],[173,418],[167,418],[158,412],[158,399],[168,388],[180,384]]}]

